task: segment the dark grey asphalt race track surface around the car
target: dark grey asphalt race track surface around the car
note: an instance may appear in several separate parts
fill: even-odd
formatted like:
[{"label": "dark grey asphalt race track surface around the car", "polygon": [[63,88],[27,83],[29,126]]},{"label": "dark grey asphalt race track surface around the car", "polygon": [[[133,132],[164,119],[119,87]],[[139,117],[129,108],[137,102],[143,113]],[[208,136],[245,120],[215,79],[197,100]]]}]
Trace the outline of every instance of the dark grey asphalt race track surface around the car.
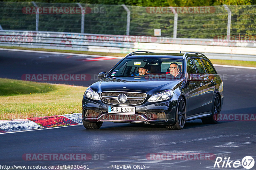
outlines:
[{"label": "dark grey asphalt race track surface around the car", "polygon": [[[99,72],[109,71],[119,60],[92,58],[4,50],[0,51],[0,77],[21,80],[23,74],[86,74],[90,80],[49,81],[86,87],[97,80]],[[254,114],[255,118],[255,70],[215,68],[224,84],[221,114],[238,117]],[[130,169],[148,170],[245,169],[242,164],[235,168],[233,163],[236,160],[241,162],[245,156],[256,160],[256,120],[232,121],[231,118],[206,125],[201,120],[194,120],[187,122],[183,130],[176,131],[164,126],[104,122],[99,130],[86,130],[83,125],[78,125],[5,133],[0,135],[0,165],[88,165],[89,169],[121,169],[121,165],[131,165]],[[89,160],[29,160],[38,154],[87,154]],[[173,159],[164,154],[179,154],[180,157]],[[204,158],[207,154],[212,157]],[[223,159],[220,168],[213,167],[217,157]],[[226,165],[228,158],[229,162],[233,160],[231,167]],[[251,169],[255,170],[256,165]]]}]

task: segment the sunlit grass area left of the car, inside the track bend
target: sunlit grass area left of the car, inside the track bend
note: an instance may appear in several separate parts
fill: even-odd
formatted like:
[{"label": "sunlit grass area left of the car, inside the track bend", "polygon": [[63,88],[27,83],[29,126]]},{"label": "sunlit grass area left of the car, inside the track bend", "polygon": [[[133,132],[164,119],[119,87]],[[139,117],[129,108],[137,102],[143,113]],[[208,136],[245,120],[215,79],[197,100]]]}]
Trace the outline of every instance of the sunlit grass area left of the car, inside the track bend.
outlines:
[{"label": "sunlit grass area left of the car, inside the track bend", "polygon": [[0,120],[79,113],[85,89],[0,78]]}]

